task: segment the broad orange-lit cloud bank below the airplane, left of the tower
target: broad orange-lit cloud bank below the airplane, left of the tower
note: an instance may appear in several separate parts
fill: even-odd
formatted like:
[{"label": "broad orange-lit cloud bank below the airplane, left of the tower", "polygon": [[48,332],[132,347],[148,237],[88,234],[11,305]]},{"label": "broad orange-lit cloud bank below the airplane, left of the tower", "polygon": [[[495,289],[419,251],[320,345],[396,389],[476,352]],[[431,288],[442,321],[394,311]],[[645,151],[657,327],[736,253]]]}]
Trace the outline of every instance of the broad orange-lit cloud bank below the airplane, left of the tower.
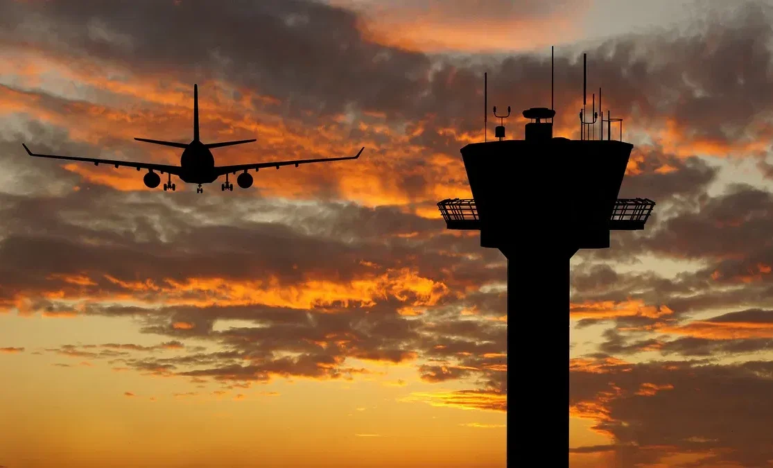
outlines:
[{"label": "broad orange-lit cloud bank below the airplane, left of the tower", "polygon": [[[342,203],[282,211],[283,202],[262,201],[266,212],[284,214],[264,223],[245,220],[235,203],[227,214],[213,208],[210,219],[220,217],[219,224],[194,235],[196,219],[152,198],[142,202],[143,214],[131,197],[107,190],[96,198],[73,192],[45,203],[6,200],[18,223],[6,225],[0,241],[2,265],[17,265],[0,268],[6,311],[134,316],[142,332],[166,336],[152,346],[94,343],[50,352],[107,360],[115,371],[210,377],[226,387],[274,377],[354,378],[369,374],[369,364],[431,356],[466,369],[455,379],[483,377],[505,389],[506,334],[503,323],[489,320],[502,315],[503,302],[476,287],[501,269],[474,268],[479,254],[457,256],[478,250],[474,241],[451,237],[454,252],[447,253],[448,234],[414,214]],[[38,209],[34,217],[30,205]],[[154,212],[162,224],[148,221]],[[34,237],[24,234],[29,228]],[[421,236],[400,235],[417,229]],[[379,231],[394,233],[388,244]],[[237,268],[224,272],[221,259],[231,255],[240,258]],[[459,275],[451,275],[452,265]],[[464,300],[465,290],[468,306],[459,310],[453,301]],[[229,319],[253,325],[216,330]],[[188,338],[225,350],[205,353],[186,345]]]}]

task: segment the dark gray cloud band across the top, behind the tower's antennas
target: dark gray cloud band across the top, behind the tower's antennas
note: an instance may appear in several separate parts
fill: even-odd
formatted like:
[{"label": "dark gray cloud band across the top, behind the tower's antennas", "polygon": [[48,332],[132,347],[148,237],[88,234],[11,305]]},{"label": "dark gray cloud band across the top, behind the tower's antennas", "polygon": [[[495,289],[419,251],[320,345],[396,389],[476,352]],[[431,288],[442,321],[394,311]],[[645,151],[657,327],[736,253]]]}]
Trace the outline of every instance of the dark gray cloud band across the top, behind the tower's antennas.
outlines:
[{"label": "dark gray cloud band across the top, behind the tower's antennas", "polygon": [[[686,140],[738,142],[773,104],[765,72],[771,22],[762,3],[726,10],[693,29],[609,39],[589,50],[591,88],[603,84],[615,114],[635,118],[627,125],[669,118]],[[484,67],[370,43],[357,24],[349,10],[301,0],[13,3],[0,23],[0,40],[64,48],[150,77],[191,80],[202,70],[220,70],[229,81],[277,97],[296,115],[310,107],[315,115],[339,113],[354,104],[386,113],[390,121],[427,119],[427,127],[477,132],[470,109],[479,106]],[[547,97],[549,62],[533,54],[492,57],[486,67],[492,99],[506,97],[515,109],[540,104],[533,99]],[[579,97],[569,84],[581,83],[581,73],[574,51],[560,50],[556,102],[567,119],[576,113],[567,104]]]}]

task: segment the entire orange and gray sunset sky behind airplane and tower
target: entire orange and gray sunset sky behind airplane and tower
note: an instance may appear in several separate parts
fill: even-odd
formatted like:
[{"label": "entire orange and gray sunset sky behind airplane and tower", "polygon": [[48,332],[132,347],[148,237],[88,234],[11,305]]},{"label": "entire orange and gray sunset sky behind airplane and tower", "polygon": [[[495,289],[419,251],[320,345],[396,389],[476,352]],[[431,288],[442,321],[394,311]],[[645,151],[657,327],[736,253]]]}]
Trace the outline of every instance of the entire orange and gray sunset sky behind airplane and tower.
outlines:
[{"label": "entire orange and gray sunset sky behind airplane and tower", "polygon": [[[570,466],[773,466],[771,7],[0,0],[0,466],[504,466],[507,326],[549,311],[436,203],[483,73],[520,138],[551,45],[554,135],[587,53],[657,203],[571,260]],[[218,164],[366,150],[197,194],[22,149],[179,163],[133,138],[188,142],[194,83],[205,142],[257,138]]]}]

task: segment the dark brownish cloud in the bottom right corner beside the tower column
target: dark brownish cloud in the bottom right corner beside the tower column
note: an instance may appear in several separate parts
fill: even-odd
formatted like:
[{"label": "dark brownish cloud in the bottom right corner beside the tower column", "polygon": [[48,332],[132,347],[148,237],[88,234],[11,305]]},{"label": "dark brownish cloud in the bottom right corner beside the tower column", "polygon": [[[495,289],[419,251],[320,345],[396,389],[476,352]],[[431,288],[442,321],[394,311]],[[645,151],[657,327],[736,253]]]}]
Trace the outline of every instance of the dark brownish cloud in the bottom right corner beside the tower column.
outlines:
[{"label": "dark brownish cloud in the bottom right corner beside the tower column", "polygon": [[594,429],[617,441],[584,450],[614,450],[626,463],[644,464],[695,451],[708,453],[701,461],[712,466],[761,466],[770,459],[760,432],[771,417],[767,361],[605,366],[604,372],[574,367],[570,374],[571,412],[594,418]]}]

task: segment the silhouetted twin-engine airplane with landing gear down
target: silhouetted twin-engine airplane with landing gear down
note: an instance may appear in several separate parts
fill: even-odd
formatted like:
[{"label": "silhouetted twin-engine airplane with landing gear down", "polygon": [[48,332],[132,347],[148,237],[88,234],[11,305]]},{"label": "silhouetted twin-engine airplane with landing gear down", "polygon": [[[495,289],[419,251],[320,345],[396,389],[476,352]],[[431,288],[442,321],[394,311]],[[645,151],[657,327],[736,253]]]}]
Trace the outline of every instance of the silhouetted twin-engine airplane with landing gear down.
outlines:
[{"label": "silhouetted twin-engine airplane with landing gear down", "polygon": [[[252,186],[253,178],[248,173],[250,169],[254,169],[257,173],[258,169],[264,167],[276,167],[290,166],[295,164],[298,167],[299,164],[307,164],[309,162],[330,162],[330,161],[343,161],[345,159],[357,159],[359,155],[363,153],[362,149],[354,156],[346,156],[342,158],[322,158],[322,159],[297,159],[295,161],[276,161],[276,162],[254,162],[251,164],[236,164],[233,166],[215,166],[215,158],[210,152],[213,148],[222,148],[223,146],[241,145],[243,143],[251,143],[257,140],[238,140],[234,142],[220,142],[220,143],[202,143],[199,141],[199,86],[193,85],[193,140],[190,143],[177,143],[177,142],[165,142],[162,140],[151,140],[148,138],[135,138],[138,142],[152,143],[154,145],[172,146],[173,148],[183,149],[180,156],[180,165],[171,166],[166,164],[155,164],[152,162],[131,162],[131,161],[116,161],[113,159],[97,159],[97,158],[80,158],[73,156],[60,156],[60,155],[42,155],[34,153],[27,148],[27,145],[22,143],[27,154],[35,156],[37,158],[51,158],[51,159],[66,159],[68,161],[85,161],[94,162],[94,166],[102,164],[111,164],[115,167],[134,167],[138,171],[141,169],[148,169],[148,173],[143,177],[145,186],[151,189],[155,189],[159,183],[161,183],[161,177],[158,173],[166,173],[169,176],[169,181],[164,183],[164,190],[175,191],[175,183],[172,183],[172,175],[179,176],[179,178],[186,183],[196,183],[199,188],[196,189],[196,193],[204,193],[202,185],[205,183],[213,183],[220,176],[226,176],[226,182],[220,185],[220,190],[230,190],[233,192],[233,183],[228,181],[228,175],[236,175],[237,172],[243,171],[237,177],[237,184],[243,188],[248,189]],[[153,171],[158,171],[155,173]]]}]

